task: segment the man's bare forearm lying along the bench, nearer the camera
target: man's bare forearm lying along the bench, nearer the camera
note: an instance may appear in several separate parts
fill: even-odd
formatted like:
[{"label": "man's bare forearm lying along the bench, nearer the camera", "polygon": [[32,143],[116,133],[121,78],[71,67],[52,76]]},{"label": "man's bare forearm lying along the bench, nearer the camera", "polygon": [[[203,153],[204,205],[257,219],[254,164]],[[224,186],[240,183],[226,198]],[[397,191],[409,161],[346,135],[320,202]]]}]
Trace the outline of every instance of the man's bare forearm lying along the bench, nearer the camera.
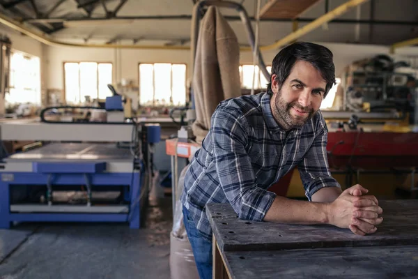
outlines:
[{"label": "man's bare forearm lying along the bench, nearer the camera", "polygon": [[328,204],[275,197],[264,221],[300,225],[328,223]]}]

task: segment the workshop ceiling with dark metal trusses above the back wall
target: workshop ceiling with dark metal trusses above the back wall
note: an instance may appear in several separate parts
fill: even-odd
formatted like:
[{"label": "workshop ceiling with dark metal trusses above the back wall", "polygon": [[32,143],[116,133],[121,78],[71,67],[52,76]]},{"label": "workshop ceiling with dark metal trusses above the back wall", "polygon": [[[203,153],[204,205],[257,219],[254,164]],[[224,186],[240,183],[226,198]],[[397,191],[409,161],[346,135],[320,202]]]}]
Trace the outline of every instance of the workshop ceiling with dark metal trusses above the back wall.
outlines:
[{"label": "workshop ceiling with dark metal trusses above the back wall", "polygon": [[[256,0],[235,0],[242,3],[252,17]],[[274,1],[274,0],[273,0]],[[275,0],[277,1],[277,0]],[[279,0],[284,1],[284,0]],[[187,45],[190,39],[192,9],[196,0],[0,0],[0,13],[30,24],[52,38],[75,43],[144,43],[157,41],[162,45]],[[293,9],[298,3],[286,1]],[[346,0],[310,1],[301,7],[299,28]],[[353,8],[338,19],[300,38],[333,43],[374,43],[390,45],[418,36],[417,0],[370,0]],[[268,0],[261,1],[261,8]],[[304,3],[306,5],[306,3]],[[238,36],[247,45],[247,36],[238,13],[222,9]],[[357,28],[356,22],[360,28]],[[261,45],[274,43],[292,32],[290,18],[268,18],[260,22]]]}]

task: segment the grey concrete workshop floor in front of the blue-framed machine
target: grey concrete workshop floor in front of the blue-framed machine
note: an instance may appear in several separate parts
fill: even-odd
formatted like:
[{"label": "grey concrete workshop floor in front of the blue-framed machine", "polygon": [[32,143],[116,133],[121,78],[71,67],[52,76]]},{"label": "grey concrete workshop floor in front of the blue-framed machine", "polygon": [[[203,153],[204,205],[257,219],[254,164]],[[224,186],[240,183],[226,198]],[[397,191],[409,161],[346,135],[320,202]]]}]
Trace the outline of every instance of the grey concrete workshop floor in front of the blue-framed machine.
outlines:
[{"label": "grey concrete workshop floor in front of the blue-framed machine", "polygon": [[170,278],[171,197],[127,224],[26,223],[0,229],[1,279]]}]

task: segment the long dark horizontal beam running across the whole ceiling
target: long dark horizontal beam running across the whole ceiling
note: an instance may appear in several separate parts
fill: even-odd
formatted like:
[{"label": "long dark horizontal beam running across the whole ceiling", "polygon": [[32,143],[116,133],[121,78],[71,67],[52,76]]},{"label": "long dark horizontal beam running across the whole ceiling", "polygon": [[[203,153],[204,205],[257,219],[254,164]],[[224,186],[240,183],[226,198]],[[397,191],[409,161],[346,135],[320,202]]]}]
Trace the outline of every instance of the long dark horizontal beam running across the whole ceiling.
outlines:
[{"label": "long dark horizontal beam running across the whole ceiling", "polygon": [[[226,16],[227,20],[231,21],[240,21],[240,17]],[[135,16],[135,17],[113,17],[111,20],[191,20],[192,15],[144,15],[144,16]],[[73,17],[73,18],[63,18],[63,17],[50,17],[50,18],[40,18],[32,19],[26,18],[24,22],[77,22],[77,21],[102,21],[109,20],[107,17]],[[249,20],[255,21],[254,17],[249,17]],[[297,18],[298,22],[312,22],[316,18]],[[261,22],[293,22],[291,19],[260,19]],[[344,20],[344,19],[335,19],[328,23],[343,23],[343,24],[380,24],[380,25],[408,25],[408,26],[418,26],[418,21],[402,21],[402,20]]]}]

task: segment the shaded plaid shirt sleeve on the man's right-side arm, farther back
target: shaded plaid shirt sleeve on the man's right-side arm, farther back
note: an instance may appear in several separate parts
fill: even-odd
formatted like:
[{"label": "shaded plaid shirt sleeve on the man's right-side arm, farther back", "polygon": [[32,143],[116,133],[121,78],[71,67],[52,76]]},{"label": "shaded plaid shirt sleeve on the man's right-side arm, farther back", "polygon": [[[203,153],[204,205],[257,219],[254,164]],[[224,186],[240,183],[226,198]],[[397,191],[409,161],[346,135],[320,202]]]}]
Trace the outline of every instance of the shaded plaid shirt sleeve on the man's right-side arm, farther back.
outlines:
[{"label": "shaded plaid shirt sleeve on the man's right-side arm, farther back", "polygon": [[316,135],[313,144],[297,166],[305,195],[311,201],[312,195],[324,187],[339,187],[339,183],[331,176],[327,159],[328,130],[325,121],[321,121],[320,132]]}]

